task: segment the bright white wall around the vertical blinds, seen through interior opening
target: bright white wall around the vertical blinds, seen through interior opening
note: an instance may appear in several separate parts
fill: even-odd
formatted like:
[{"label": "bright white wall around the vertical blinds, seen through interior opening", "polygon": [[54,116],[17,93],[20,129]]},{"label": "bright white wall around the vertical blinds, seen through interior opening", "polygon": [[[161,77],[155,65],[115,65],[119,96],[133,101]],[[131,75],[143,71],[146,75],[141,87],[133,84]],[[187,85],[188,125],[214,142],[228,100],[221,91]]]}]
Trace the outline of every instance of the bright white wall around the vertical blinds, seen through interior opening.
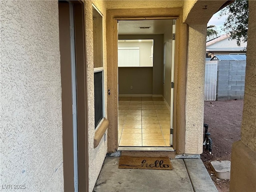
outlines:
[{"label": "bright white wall around the vertical blinds, seen through interior opening", "polygon": [[151,61],[151,47],[153,42],[118,42],[118,47],[139,47],[140,66],[153,66]]}]

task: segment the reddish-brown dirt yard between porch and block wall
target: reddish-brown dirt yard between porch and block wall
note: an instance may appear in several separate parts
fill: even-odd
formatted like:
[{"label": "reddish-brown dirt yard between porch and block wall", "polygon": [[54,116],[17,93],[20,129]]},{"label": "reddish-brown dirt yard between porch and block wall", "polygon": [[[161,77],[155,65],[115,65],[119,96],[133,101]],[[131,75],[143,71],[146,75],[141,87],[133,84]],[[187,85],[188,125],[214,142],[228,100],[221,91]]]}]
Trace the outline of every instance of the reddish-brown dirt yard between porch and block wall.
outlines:
[{"label": "reddish-brown dirt yard between porch and block wall", "polygon": [[218,179],[210,167],[213,160],[231,160],[232,143],[241,138],[244,100],[205,101],[204,123],[208,124],[213,148],[212,155],[204,147],[201,159],[219,192],[229,191],[228,179]]}]

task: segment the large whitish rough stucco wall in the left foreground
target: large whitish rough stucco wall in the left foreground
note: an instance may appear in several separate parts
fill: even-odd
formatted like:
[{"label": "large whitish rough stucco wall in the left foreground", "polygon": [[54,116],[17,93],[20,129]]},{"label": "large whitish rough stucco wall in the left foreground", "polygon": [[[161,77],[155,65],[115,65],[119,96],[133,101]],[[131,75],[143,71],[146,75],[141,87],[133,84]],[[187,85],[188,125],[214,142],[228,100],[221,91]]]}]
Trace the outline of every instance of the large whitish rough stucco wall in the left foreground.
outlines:
[{"label": "large whitish rough stucco wall in the left foreground", "polygon": [[0,1],[2,185],[63,191],[58,1]]}]

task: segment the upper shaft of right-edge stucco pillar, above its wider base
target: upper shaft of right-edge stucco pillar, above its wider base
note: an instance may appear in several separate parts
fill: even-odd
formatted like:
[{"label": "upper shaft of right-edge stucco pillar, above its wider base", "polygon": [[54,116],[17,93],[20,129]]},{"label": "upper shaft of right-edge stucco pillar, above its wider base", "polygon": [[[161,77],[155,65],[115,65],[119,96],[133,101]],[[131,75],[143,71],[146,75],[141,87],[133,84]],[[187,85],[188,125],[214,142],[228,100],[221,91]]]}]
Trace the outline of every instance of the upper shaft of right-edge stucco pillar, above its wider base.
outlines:
[{"label": "upper shaft of right-edge stucco pillar, above its wider base", "polygon": [[249,28],[242,120],[242,142],[256,152],[256,2],[249,2]]}]

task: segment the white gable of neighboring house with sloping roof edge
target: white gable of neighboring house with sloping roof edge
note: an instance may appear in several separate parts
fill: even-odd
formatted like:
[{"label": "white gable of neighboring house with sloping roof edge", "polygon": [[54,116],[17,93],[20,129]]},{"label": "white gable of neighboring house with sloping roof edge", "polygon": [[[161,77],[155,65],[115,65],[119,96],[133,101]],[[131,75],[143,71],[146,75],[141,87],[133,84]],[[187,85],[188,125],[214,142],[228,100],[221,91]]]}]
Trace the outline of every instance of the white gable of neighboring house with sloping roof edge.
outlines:
[{"label": "white gable of neighboring house with sloping roof edge", "polygon": [[241,46],[237,46],[236,40],[229,39],[230,35],[224,34],[217,38],[214,38],[206,42],[206,51],[244,51],[244,48],[247,47],[247,42],[241,42]]}]

